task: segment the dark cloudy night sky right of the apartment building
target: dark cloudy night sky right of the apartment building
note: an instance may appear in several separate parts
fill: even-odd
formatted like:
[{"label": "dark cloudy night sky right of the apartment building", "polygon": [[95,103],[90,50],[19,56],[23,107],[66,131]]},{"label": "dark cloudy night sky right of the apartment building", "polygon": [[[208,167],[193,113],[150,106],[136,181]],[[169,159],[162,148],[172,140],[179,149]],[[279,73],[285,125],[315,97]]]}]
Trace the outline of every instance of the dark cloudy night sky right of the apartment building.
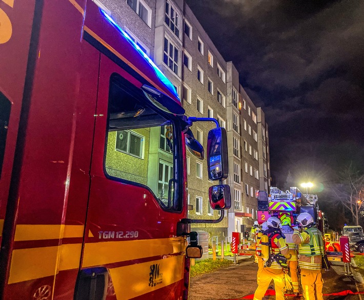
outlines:
[{"label": "dark cloudy night sky right of the apartment building", "polygon": [[266,113],[273,184],[364,167],[364,1],[187,4]]}]

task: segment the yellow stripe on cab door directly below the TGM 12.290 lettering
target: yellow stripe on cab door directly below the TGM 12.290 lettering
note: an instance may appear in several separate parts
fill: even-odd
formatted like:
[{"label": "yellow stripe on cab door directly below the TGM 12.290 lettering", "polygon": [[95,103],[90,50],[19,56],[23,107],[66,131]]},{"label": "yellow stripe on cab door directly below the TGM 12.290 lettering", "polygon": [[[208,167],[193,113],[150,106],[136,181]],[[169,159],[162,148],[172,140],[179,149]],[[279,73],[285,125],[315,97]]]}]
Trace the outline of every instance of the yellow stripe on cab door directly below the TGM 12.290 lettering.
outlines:
[{"label": "yellow stripe on cab door directly below the TGM 12.290 lettering", "polygon": [[183,237],[86,243],[82,267],[184,252],[187,246],[186,243]]}]

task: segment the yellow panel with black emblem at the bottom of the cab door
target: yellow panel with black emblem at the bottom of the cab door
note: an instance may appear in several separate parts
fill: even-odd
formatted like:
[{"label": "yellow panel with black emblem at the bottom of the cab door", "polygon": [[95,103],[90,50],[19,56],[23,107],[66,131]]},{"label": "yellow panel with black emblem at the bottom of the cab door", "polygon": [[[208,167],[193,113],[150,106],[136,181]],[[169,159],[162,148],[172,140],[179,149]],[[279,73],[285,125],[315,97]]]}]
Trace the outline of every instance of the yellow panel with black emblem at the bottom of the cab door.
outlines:
[{"label": "yellow panel with black emblem at the bottom of the cab door", "polygon": [[[131,299],[183,279],[184,257],[185,255],[177,255],[152,262],[110,268],[116,298]],[[151,278],[152,270],[154,276]]]}]

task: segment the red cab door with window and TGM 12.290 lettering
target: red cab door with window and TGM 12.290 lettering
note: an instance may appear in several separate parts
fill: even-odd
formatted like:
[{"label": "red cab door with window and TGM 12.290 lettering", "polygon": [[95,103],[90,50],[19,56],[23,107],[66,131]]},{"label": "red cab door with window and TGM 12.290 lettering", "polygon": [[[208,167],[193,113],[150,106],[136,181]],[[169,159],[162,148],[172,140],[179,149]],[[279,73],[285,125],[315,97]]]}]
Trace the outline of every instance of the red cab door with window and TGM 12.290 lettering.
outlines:
[{"label": "red cab door with window and TGM 12.290 lettering", "polygon": [[176,237],[185,213],[176,185],[183,166],[180,129],[144,106],[140,87],[101,54],[79,275],[89,285],[78,286],[91,289],[94,274],[94,285],[105,288],[107,299],[179,299],[186,248],[185,240]]}]

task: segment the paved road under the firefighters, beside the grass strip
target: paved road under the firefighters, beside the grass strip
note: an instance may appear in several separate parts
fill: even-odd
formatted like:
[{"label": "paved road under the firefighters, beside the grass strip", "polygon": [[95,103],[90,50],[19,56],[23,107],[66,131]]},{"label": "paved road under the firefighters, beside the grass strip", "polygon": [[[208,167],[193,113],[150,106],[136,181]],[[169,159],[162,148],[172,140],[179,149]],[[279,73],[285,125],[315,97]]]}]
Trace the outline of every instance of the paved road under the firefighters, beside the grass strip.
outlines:
[{"label": "paved road under the firefighters, beside the grass strip", "polygon": [[[189,300],[239,299],[253,294],[256,284],[257,265],[253,258],[239,257],[238,265],[231,265],[215,272],[191,278]],[[354,271],[354,277],[346,276],[342,263],[335,263],[330,271],[323,273],[323,293],[343,290],[364,291],[361,276]],[[361,283],[360,283],[361,282]],[[274,296],[265,299],[273,300]],[[303,297],[291,298],[303,300]],[[364,300],[364,295],[324,296],[324,300]]]}]

